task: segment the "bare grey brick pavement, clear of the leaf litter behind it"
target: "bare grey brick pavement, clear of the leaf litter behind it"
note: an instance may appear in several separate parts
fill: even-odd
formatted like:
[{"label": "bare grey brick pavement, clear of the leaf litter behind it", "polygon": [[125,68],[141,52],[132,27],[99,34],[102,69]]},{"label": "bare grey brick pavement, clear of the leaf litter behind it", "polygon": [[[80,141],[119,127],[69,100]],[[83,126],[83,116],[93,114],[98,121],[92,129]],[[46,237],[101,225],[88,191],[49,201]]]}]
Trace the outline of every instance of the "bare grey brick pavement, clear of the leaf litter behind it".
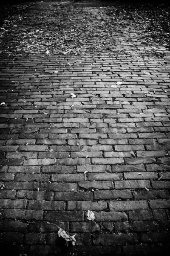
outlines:
[{"label": "bare grey brick pavement, clear of the leaf litter behind it", "polygon": [[[72,4],[96,14],[91,3]],[[119,26],[112,51],[0,59],[0,232],[13,255],[62,255],[53,224],[77,233],[77,256],[170,249],[170,52]],[[153,48],[164,56],[142,58]]]}]

